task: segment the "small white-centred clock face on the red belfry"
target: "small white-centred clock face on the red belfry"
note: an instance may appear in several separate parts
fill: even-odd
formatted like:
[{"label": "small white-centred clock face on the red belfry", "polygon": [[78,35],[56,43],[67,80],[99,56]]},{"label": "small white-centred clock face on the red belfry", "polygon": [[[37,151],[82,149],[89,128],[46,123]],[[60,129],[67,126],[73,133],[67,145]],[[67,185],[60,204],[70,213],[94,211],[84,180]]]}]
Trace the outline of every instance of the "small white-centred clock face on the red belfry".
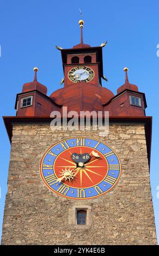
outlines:
[{"label": "small white-centred clock face on the red belfry", "polygon": [[88,83],[93,80],[94,71],[93,69],[88,68],[88,66],[75,66],[75,68],[69,71],[68,77],[74,83],[80,81]]}]

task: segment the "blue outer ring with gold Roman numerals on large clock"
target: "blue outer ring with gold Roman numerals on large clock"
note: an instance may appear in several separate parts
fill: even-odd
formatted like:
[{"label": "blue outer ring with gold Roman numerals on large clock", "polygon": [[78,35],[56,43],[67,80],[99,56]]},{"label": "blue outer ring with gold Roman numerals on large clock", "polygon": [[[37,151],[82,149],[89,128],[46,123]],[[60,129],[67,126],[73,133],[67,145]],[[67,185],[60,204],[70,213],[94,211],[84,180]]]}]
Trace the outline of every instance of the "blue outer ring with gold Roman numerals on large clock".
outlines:
[{"label": "blue outer ring with gold Roman numerals on large clock", "polygon": [[[69,189],[63,184],[63,182],[52,182],[53,184],[49,184],[47,180],[49,179],[48,176],[55,175],[53,169],[48,169],[47,165],[53,166],[53,163],[56,159],[56,157],[62,153],[65,148],[62,147],[61,143],[64,143],[65,147],[66,144],[71,147],[80,147],[80,141],[79,145],[76,145],[77,139],[84,139],[84,145],[90,148],[95,148],[99,150],[103,155],[105,155],[109,170],[104,180],[102,180],[99,184],[89,187],[89,188],[74,188],[69,187]],[[82,142],[81,142],[82,143]],[[52,152],[56,156],[52,156],[49,152]],[[118,182],[119,176],[121,173],[121,165],[118,156],[115,154],[114,150],[106,145],[103,142],[97,141],[95,139],[90,138],[84,138],[84,137],[76,137],[76,138],[69,138],[65,139],[64,141],[58,142],[57,144],[52,145],[50,149],[47,150],[44,157],[42,157],[42,161],[40,164],[41,168],[41,178],[45,180],[45,184],[48,188],[50,188],[52,191],[60,194],[61,196],[72,198],[72,199],[89,199],[101,196],[102,194],[108,192],[111,190]],[[47,178],[48,177],[48,178]],[[56,177],[57,178],[57,177]]]}]

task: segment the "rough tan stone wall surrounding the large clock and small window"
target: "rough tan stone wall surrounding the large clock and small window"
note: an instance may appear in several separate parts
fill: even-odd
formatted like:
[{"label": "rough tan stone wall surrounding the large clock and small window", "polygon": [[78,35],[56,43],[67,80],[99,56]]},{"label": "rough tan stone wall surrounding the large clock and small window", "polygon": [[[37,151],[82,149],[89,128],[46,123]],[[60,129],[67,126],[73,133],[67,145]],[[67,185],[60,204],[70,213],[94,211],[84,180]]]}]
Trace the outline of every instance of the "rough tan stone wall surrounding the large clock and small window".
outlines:
[{"label": "rough tan stone wall surrounding the large clock and small window", "polygon": [[[121,177],[112,191],[96,199],[70,200],[47,189],[39,163],[52,144],[85,136],[111,146],[121,161]],[[91,225],[70,224],[76,205],[91,209]],[[49,125],[15,125],[5,201],[3,245],[155,245],[156,231],[143,125],[110,125],[97,131],[61,131]]]}]

